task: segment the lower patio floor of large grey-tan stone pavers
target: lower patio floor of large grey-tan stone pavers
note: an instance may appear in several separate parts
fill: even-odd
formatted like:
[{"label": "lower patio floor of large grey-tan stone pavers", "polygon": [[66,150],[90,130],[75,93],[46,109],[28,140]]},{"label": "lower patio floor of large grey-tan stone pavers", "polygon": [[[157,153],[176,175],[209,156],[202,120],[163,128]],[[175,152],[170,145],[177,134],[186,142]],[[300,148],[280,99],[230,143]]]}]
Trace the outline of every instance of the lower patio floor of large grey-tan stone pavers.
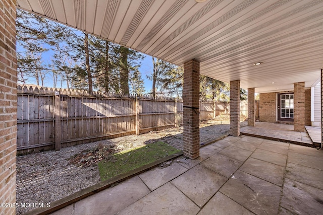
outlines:
[{"label": "lower patio floor of large grey-tan stone pavers", "polygon": [[[166,165],[167,166],[167,165]],[[251,136],[179,157],[54,214],[322,214],[323,151]]]}]

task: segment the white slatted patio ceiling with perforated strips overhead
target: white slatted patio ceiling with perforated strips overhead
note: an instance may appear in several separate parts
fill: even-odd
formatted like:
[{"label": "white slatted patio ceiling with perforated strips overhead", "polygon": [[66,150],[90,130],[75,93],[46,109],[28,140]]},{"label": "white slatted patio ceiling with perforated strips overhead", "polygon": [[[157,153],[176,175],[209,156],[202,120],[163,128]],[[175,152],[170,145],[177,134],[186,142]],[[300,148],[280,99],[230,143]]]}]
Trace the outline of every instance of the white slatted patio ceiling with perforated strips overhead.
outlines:
[{"label": "white slatted patio ceiling with perforated strips overhead", "polygon": [[[323,65],[323,1],[17,0],[17,7],[256,92],[311,87]],[[263,62],[260,65],[253,65]]]}]

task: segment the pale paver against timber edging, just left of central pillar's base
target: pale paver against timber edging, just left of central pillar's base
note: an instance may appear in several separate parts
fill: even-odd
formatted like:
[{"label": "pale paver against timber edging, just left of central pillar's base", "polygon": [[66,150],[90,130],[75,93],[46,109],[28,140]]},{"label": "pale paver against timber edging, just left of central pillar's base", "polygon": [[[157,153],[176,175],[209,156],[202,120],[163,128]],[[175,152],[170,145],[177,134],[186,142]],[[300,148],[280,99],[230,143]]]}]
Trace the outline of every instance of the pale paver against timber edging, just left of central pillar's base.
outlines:
[{"label": "pale paver against timber edging, just left of central pillar's base", "polygon": [[172,163],[172,165],[166,168],[154,168],[150,171],[144,172],[140,174],[139,177],[150,190],[154,190],[186,171],[187,168],[178,163]]}]

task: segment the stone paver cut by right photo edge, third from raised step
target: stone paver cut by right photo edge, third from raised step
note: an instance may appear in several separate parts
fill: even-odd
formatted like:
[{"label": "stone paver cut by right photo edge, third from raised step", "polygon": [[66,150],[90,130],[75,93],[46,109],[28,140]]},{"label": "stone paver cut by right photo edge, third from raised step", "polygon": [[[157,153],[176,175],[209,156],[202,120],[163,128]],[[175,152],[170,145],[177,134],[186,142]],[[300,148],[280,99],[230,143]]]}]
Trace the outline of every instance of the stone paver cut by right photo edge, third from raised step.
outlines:
[{"label": "stone paver cut by right photo edge, third from raised step", "polygon": [[287,162],[286,178],[323,189],[323,171]]}]

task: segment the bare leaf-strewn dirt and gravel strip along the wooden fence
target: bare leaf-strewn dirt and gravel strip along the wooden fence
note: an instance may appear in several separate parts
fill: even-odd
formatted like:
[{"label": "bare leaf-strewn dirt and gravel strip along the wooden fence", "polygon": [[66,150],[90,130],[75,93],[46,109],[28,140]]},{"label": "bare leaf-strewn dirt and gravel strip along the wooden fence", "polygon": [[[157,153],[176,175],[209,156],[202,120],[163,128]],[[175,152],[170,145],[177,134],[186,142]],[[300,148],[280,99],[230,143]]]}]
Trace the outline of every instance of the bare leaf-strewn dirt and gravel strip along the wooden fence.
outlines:
[{"label": "bare leaf-strewn dirt and gravel strip along the wooden fence", "polygon": [[[243,124],[243,123],[242,123]],[[229,121],[200,123],[200,142],[217,138],[230,129]],[[183,150],[183,127],[129,135],[89,144],[17,157],[16,202],[52,202],[100,182],[96,163],[106,153],[137,148],[158,140]],[[98,156],[100,148],[109,149]],[[17,208],[17,214],[32,208]]]}]

